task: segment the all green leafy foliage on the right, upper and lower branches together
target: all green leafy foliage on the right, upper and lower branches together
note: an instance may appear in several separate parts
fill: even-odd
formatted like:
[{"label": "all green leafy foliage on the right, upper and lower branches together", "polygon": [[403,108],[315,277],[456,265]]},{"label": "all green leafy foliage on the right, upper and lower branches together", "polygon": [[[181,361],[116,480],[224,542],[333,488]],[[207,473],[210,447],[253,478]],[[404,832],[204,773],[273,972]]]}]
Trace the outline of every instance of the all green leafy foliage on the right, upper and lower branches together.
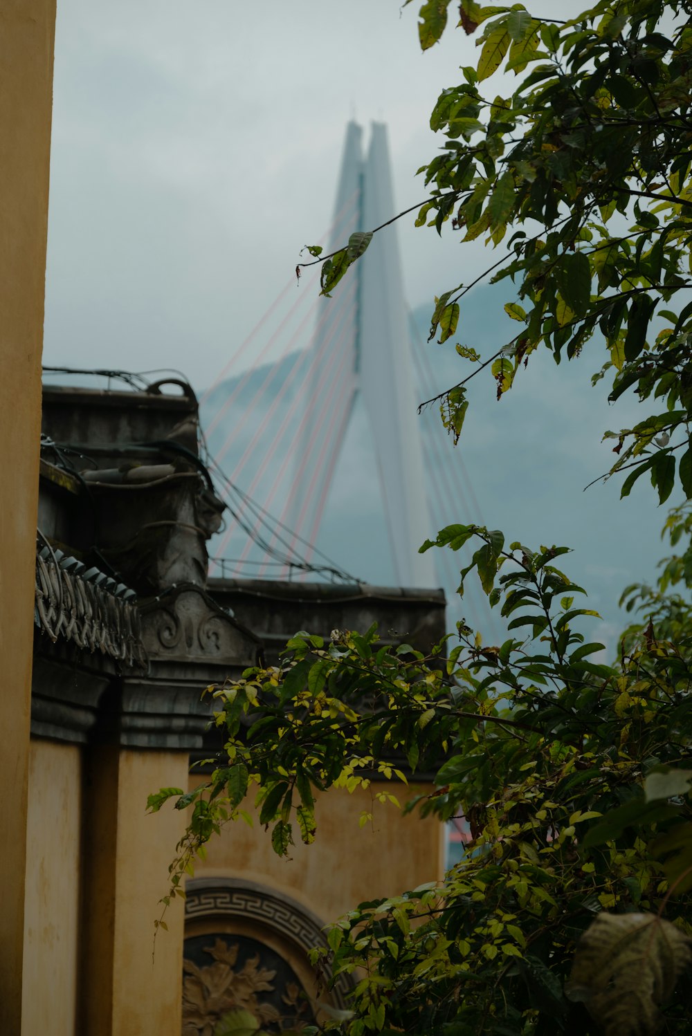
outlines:
[{"label": "all green leafy foliage on the right, upper and lower branches together", "polygon": [[[456,9],[423,4],[424,49]],[[633,392],[659,411],[606,433],[616,440],[606,477],[627,472],[627,495],[648,472],[661,502],[676,481],[689,499],[690,5],[604,0],[558,21],[462,0],[459,13],[480,57],[433,111],[444,145],[421,171],[430,194],[417,222],[498,248],[509,234],[483,276],[514,282],[506,309],[520,327],[485,359],[457,345],[473,366],[439,398],[444,424],[456,440],[465,383],[482,370],[500,398],[540,346],[556,362],[588,348],[611,401]],[[498,69],[516,74],[512,96],[486,96]],[[311,247],[323,293],[377,231],[331,256]],[[440,294],[431,337],[455,337],[472,287]],[[356,978],[352,1014],[333,1026],[347,1036],[634,1036],[663,1012],[667,1033],[688,1033],[689,983],[677,979],[692,933],[689,503],[665,531],[681,553],[656,588],[626,591],[637,621],[613,664],[575,626],[595,613],[575,606],[584,592],[554,564],[567,548],[452,525],[421,549],[474,545],[459,592],[480,578],[509,622],[504,643],[460,625],[458,639],[423,657],[381,646],[375,630],[336,631],[328,643],[297,634],[280,667],[215,689],[227,760],[190,795],[150,799],[152,809],[176,795],[193,807],[172,891],[251,786],[287,854],[294,831],[315,838],[316,793],[352,790],[373,771],[405,784],[405,759],[408,772],[436,772],[435,792],[406,808],[463,813],[472,839],[443,884],[394,890],[330,929],[328,973]]]}]

